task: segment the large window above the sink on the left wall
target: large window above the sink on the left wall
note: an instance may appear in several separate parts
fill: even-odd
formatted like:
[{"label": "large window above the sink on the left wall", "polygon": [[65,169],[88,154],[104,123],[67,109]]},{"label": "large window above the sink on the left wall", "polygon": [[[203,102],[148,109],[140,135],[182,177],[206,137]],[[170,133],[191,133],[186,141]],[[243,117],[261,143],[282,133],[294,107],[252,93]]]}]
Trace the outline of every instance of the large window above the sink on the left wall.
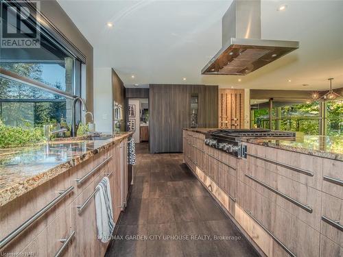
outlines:
[{"label": "large window above the sink on the left wall", "polygon": [[43,25],[40,29],[40,47],[1,49],[0,69],[6,73],[0,77],[0,119],[5,125],[32,127],[62,118],[71,123],[73,97],[82,95],[78,54]]}]

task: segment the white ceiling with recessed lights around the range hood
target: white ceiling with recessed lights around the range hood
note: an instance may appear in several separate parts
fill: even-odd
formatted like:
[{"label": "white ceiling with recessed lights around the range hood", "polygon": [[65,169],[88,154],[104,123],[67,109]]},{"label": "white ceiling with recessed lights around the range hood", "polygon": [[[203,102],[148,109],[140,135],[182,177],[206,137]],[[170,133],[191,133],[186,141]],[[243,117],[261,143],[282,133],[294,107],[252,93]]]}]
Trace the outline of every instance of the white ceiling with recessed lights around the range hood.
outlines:
[{"label": "white ceiling with recessed lights around the range hood", "polygon": [[[262,0],[261,37],[298,40],[300,48],[239,77],[200,74],[222,47],[221,19],[232,0],[58,2],[93,45],[95,67],[113,67],[126,86],[309,90],[327,88],[328,77],[343,86],[343,1]],[[277,11],[282,4],[286,10]]]}]

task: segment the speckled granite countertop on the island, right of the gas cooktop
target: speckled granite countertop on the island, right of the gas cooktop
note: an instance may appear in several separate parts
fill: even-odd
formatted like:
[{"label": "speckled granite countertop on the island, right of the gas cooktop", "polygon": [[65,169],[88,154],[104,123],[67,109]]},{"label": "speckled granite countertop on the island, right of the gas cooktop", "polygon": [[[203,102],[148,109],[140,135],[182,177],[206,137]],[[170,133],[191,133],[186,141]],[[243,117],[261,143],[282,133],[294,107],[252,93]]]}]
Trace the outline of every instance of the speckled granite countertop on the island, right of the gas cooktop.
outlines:
[{"label": "speckled granite countertop on the island, right of the gas cooktop", "polygon": [[251,138],[247,142],[343,161],[343,136],[304,136],[295,140]]}]

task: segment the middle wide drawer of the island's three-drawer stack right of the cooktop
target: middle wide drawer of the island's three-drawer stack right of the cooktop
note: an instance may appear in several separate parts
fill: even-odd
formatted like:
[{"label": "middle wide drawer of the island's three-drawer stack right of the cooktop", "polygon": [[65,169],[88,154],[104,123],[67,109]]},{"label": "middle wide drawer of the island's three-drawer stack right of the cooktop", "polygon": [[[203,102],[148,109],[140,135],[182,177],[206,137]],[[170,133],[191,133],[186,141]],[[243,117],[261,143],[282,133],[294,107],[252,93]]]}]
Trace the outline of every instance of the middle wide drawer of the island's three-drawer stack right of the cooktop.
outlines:
[{"label": "middle wide drawer of the island's three-drawer stack right of the cooktop", "polygon": [[261,195],[320,231],[320,191],[261,167],[242,171],[239,176]]}]

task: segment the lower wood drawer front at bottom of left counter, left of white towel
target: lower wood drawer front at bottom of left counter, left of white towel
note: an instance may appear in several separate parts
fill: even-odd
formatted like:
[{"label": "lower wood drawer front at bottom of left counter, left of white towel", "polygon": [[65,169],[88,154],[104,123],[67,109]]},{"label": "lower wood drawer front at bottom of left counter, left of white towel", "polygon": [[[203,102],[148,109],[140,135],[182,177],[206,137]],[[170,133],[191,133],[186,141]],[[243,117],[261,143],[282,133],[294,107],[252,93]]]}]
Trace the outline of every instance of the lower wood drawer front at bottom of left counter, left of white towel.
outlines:
[{"label": "lower wood drawer front at bottom of left counter, left of white towel", "polygon": [[[62,256],[72,257],[71,247],[75,245],[75,230],[71,227],[71,210],[67,208],[29,243],[22,253],[32,253],[32,256],[55,256],[62,251]],[[68,239],[61,242],[61,239]],[[62,247],[64,249],[62,250]]]}]

